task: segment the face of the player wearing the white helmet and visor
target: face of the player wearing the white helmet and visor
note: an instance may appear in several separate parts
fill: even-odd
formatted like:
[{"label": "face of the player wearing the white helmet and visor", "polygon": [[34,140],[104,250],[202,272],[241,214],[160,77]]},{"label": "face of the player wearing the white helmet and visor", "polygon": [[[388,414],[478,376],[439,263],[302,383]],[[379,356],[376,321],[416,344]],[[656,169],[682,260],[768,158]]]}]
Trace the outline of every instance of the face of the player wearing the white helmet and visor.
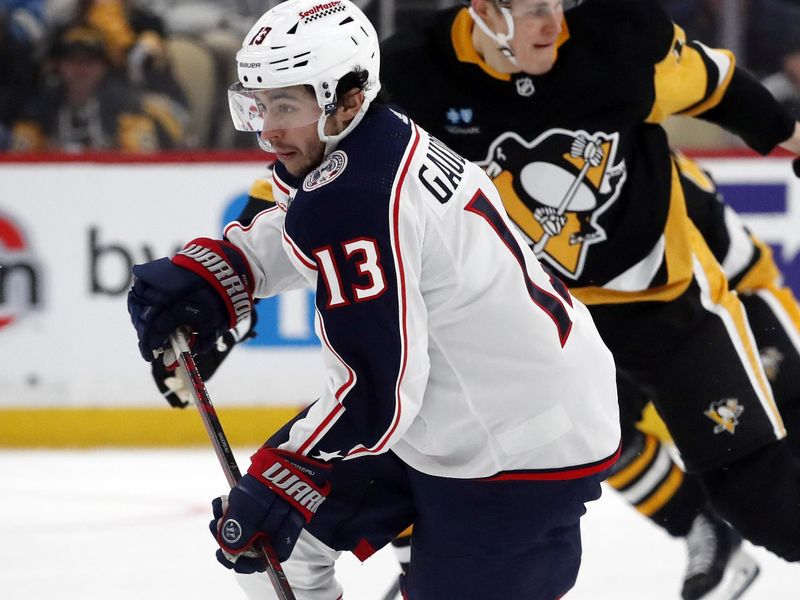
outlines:
[{"label": "face of the player wearing the white helmet and visor", "polygon": [[297,85],[255,93],[264,118],[261,139],[268,142],[278,160],[296,177],[316,168],[325,154],[317,123],[322,109],[314,95]]}]

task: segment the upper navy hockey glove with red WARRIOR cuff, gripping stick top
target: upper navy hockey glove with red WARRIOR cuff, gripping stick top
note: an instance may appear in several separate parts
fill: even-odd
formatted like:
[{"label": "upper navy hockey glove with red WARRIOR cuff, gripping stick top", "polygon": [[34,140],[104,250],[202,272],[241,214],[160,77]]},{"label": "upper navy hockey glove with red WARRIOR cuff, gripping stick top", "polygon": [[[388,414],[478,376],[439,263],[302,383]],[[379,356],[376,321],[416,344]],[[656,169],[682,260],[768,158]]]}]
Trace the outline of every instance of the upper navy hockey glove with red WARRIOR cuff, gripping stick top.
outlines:
[{"label": "upper navy hockey glove with red WARRIOR cuff, gripping stick top", "polygon": [[134,265],[133,274],[128,313],[148,362],[179,327],[192,330],[191,342],[202,354],[252,312],[253,277],[229,242],[197,238],[172,259]]}]

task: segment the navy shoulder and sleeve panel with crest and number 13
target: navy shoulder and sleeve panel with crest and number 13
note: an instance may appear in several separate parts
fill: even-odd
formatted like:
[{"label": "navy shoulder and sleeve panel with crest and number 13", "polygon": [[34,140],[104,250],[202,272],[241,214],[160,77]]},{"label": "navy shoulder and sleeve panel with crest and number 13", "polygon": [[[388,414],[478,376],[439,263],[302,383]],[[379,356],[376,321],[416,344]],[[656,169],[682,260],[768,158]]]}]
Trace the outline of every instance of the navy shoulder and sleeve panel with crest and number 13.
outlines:
[{"label": "navy shoulder and sleeve panel with crest and number 13", "polygon": [[312,438],[311,456],[374,447],[399,414],[405,283],[393,200],[395,181],[408,166],[406,150],[417,139],[412,129],[408,118],[373,106],[305,178],[286,213],[287,234],[318,272],[321,342],[352,374],[336,391],[344,412]]}]

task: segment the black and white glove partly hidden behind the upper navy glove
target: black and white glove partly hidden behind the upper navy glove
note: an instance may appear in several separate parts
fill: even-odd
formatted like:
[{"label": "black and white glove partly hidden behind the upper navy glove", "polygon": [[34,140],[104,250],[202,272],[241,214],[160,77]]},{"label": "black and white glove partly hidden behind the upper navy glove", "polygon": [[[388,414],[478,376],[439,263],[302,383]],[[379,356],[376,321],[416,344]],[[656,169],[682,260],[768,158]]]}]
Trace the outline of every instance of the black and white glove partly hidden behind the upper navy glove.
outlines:
[{"label": "black and white glove partly hidden behind the upper navy glove", "polygon": [[[258,301],[256,301],[258,302]],[[239,324],[222,334],[211,349],[199,355],[194,355],[194,362],[203,381],[208,381],[216,373],[222,361],[230,354],[236,344],[256,336],[255,326],[258,312],[253,310],[250,318],[240,321]],[[166,359],[166,355],[165,355]],[[183,379],[175,374],[176,364],[169,367],[164,360],[154,360],[152,363],[153,379],[161,395],[166,398],[169,405],[174,408],[186,408],[192,402],[192,394]]]}]

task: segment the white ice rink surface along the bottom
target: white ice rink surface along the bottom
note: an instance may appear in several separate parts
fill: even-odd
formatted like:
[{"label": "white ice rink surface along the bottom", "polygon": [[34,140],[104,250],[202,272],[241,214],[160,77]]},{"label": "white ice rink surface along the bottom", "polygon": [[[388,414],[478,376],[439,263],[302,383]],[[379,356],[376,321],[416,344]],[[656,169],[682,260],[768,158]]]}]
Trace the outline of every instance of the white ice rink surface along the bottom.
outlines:
[{"label": "white ice rink surface along the bottom", "polygon": [[[210,448],[0,452],[0,599],[241,600],[206,528],[225,488]],[[567,600],[678,598],[683,544],[613,491],[589,505],[583,532]],[[800,598],[800,565],[751,551],[761,576],[744,600]],[[347,600],[378,600],[397,569],[390,550],[338,566]]]}]

